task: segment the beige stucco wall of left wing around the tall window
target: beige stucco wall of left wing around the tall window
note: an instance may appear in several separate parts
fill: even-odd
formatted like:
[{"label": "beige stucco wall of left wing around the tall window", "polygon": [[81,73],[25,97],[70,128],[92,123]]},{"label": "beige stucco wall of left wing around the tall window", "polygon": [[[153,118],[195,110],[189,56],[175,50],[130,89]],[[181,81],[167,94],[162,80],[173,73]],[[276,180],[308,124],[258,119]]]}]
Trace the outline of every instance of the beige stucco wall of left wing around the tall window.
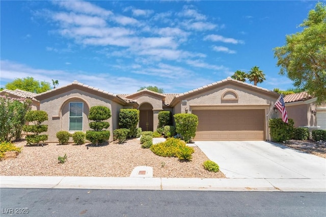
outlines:
[{"label": "beige stucco wall of left wing around the tall window", "polygon": [[[116,112],[120,110],[123,106],[113,102],[112,100],[96,96],[94,94],[82,91],[82,90],[70,90],[56,96],[41,100],[40,110],[47,112],[48,121],[44,124],[48,125],[48,131],[46,134],[49,135],[47,142],[57,142],[56,133],[61,130],[68,131],[69,125],[69,102],[83,102],[84,112],[83,112],[83,131],[91,130],[89,128],[89,109],[95,105],[103,105],[110,108],[113,117],[107,120],[110,123],[111,136],[110,140],[113,140],[113,130],[118,128],[119,116]],[[118,113],[119,114],[119,113]],[[71,132],[73,133],[73,131]]]}]

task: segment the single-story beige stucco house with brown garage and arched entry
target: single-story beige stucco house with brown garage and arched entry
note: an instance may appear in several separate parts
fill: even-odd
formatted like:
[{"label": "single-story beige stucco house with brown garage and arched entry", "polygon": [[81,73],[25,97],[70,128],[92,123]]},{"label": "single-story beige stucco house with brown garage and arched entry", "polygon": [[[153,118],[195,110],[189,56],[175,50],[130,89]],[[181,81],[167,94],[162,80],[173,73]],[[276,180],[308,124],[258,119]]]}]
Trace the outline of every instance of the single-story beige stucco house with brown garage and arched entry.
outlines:
[{"label": "single-story beige stucco house with brown garage and arched entry", "polygon": [[57,142],[56,133],[89,130],[90,107],[110,108],[110,141],[113,130],[119,128],[121,108],[140,110],[139,127],[156,130],[158,113],[193,113],[198,116],[194,140],[234,141],[270,140],[268,119],[277,117],[270,112],[279,94],[230,77],[185,93],[160,94],[142,90],[133,94],[113,94],[84,85],[76,80],[66,86],[37,94],[39,110],[47,112],[49,120],[47,142]]}]

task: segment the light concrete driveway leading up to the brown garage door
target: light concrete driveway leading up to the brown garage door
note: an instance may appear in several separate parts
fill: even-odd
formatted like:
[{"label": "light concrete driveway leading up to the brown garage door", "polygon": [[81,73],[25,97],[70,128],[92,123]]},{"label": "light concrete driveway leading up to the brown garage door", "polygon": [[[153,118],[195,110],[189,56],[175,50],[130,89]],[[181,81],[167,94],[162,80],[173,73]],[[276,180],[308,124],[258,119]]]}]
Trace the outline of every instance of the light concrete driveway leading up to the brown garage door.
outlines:
[{"label": "light concrete driveway leading up to the brown garage door", "polygon": [[195,142],[228,178],[325,179],[326,159],[264,141]]}]

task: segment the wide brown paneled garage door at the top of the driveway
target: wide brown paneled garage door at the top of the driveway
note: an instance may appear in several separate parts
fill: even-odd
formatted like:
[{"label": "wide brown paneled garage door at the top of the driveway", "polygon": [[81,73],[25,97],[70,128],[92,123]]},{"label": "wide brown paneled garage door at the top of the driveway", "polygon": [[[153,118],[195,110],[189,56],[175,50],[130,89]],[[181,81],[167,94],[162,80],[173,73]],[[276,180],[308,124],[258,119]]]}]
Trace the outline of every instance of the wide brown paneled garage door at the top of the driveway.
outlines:
[{"label": "wide brown paneled garage door at the top of the driveway", "polygon": [[197,141],[264,140],[264,110],[193,110]]}]

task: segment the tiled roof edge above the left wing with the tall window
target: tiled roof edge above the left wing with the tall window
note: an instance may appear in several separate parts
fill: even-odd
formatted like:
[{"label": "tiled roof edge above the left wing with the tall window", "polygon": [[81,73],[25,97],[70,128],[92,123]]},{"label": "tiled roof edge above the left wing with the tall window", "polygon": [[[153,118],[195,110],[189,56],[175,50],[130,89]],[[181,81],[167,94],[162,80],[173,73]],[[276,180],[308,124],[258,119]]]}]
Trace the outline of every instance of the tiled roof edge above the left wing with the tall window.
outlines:
[{"label": "tiled roof edge above the left wing with the tall window", "polygon": [[93,92],[94,94],[103,94],[104,96],[109,96],[109,97],[113,97],[115,99],[117,99],[117,101],[120,101],[120,102],[124,102],[124,103],[137,103],[136,100],[132,100],[132,99],[127,99],[127,98],[124,98],[122,96],[118,96],[117,94],[113,94],[113,93],[110,93],[110,92],[107,92],[107,91],[104,91],[104,90],[101,90],[101,89],[98,89],[98,88],[95,88],[95,87],[92,87],[92,86],[89,86],[89,85],[85,85],[83,83],[80,83],[78,82],[77,80],[74,80],[73,83],[71,84],[68,84],[68,85],[65,85],[65,86],[61,86],[61,87],[58,87],[58,88],[55,88],[55,89],[52,89],[52,90],[49,90],[49,91],[46,91],[46,92],[43,92],[43,93],[40,93],[40,94],[37,94],[35,97],[37,99],[45,99],[48,97],[48,95],[55,95],[56,92],[62,92],[64,91],[65,89],[68,89],[68,88],[77,88],[77,89],[86,89],[90,92]]}]

